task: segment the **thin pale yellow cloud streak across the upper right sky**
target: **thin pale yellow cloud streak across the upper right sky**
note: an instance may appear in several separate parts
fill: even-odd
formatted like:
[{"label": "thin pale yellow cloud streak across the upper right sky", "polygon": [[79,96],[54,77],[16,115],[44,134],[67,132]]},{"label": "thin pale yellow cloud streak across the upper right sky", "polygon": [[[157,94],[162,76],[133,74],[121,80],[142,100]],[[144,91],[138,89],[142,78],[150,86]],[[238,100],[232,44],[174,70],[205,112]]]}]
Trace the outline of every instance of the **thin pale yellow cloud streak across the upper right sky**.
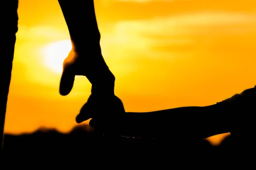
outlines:
[{"label": "thin pale yellow cloud streak across the upper right sky", "polygon": [[[116,32],[129,34],[177,35],[189,32],[189,26],[227,26],[233,24],[256,23],[256,14],[225,13],[221,11],[201,11],[149,20],[123,21],[116,24]],[[185,31],[186,30],[186,31]]]}]

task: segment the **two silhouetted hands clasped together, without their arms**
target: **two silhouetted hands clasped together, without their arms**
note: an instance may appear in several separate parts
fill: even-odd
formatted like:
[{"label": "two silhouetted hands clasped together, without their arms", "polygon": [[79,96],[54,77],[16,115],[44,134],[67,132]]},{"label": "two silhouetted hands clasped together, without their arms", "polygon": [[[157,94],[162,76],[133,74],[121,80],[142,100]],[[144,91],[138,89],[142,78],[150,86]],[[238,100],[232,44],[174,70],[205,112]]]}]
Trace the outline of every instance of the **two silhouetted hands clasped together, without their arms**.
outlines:
[{"label": "two silhouetted hands clasped together, without their arms", "polygon": [[[109,83],[108,75],[105,76],[105,74],[97,75],[90,73],[93,70],[90,70],[90,66],[86,65],[86,62],[79,60],[81,59],[79,55],[83,54],[72,50],[64,60],[59,93],[62,96],[66,96],[70,93],[73,88],[75,76],[87,77],[92,83],[92,93],[87,99],[87,102],[82,106],[79,114],[76,116],[76,122],[81,123],[91,119],[89,125],[94,127],[94,130],[104,133],[104,130],[109,131],[109,128],[113,129],[114,126],[119,123],[122,115],[125,113],[125,109],[121,99],[113,93],[115,78],[111,71],[109,71],[109,69],[105,71],[109,72],[113,77],[112,80],[109,78],[109,81],[112,81]],[[99,70],[100,69],[101,68],[99,68]],[[98,76],[97,78],[103,79],[105,82],[95,81],[95,78],[92,78],[93,76]],[[111,84],[111,88],[109,89],[112,90],[105,89],[108,84]]]}]

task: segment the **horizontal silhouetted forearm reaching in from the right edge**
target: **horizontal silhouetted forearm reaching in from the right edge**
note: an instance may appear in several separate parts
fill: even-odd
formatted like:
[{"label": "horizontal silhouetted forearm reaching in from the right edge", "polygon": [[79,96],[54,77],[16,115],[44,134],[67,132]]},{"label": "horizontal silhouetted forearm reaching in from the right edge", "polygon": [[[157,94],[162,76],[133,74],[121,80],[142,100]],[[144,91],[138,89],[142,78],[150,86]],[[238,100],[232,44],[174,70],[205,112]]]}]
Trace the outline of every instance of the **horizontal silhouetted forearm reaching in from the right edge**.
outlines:
[{"label": "horizontal silhouetted forearm reaching in from the right edge", "polygon": [[[254,144],[250,139],[256,130],[256,86],[244,90],[214,105],[172,108],[145,113],[108,114],[90,125],[102,134],[137,136],[169,141],[190,139],[198,141],[230,132],[238,145]],[[248,138],[250,141],[248,141]],[[163,140],[161,140],[163,139]],[[252,145],[250,145],[252,146]]]}]

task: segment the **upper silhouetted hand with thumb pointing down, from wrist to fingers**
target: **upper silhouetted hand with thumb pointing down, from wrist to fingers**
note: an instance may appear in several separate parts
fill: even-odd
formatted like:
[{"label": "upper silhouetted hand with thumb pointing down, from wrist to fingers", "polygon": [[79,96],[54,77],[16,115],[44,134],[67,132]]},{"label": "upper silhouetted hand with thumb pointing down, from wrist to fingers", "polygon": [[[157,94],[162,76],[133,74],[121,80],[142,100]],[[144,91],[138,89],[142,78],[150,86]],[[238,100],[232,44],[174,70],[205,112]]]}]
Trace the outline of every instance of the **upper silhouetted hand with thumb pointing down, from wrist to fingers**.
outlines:
[{"label": "upper silhouetted hand with thumb pointing down, from wrist to fingers", "polygon": [[66,96],[72,90],[75,76],[87,77],[92,84],[93,93],[114,94],[115,77],[106,65],[100,50],[70,51],[63,62],[59,86],[59,93],[62,96]]}]

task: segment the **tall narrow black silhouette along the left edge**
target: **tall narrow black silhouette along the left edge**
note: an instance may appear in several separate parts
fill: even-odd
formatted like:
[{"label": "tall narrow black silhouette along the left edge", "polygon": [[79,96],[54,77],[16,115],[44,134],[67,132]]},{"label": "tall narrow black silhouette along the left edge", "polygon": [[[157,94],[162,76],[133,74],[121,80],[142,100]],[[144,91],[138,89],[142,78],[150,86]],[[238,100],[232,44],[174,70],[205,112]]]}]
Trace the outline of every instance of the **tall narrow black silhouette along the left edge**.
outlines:
[{"label": "tall narrow black silhouette along the left edge", "polygon": [[[6,104],[9,94],[9,85],[12,75],[12,61],[14,55],[14,47],[16,41],[16,32],[18,30],[17,15],[18,0],[3,0],[1,1],[1,11],[4,11],[1,20],[1,89],[0,89],[0,143],[3,146],[3,130],[6,115]],[[2,147],[1,147],[2,156]]]}]

